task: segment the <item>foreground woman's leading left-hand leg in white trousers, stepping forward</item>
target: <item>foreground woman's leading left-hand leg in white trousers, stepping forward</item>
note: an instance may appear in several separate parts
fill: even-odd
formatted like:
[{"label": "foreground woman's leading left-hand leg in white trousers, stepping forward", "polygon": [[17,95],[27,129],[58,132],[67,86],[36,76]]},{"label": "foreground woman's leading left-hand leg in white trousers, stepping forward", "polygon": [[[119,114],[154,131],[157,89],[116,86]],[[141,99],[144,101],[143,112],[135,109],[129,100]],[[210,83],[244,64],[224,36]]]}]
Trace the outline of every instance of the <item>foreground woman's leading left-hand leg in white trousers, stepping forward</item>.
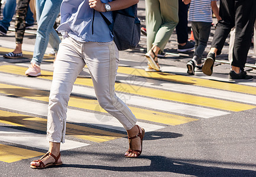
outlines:
[{"label": "foreground woman's leading left-hand leg in white trousers, stepping forward", "polygon": [[[80,46],[79,42],[65,38],[60,44],[60,53],[57,54],[54,67],[48,104],[47,140],[50,143],[48,151],[56,157],[60,152],[60,143],[65,142],[67,103],[73,83],[85,66]],[[47,156],[42,161],[47,164],[55,159]],[[31,162],[31,165],[38,166],[39,163]]]}]

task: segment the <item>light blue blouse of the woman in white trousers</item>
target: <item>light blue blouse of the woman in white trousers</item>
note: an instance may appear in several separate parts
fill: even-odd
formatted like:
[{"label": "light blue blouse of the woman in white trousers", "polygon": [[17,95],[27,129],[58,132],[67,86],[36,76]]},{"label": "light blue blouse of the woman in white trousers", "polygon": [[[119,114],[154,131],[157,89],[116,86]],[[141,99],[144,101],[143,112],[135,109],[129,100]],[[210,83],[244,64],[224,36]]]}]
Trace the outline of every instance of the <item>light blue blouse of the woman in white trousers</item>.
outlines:
[{"label": "light blue blouse of the woman in white trousers", "polygon": [[[103,3],[112,0],[101,0]],[[95,13],[95,14],[94,14]],[[102,12],[113,22],[112,12]],[[63,0],[60,6],[61,21],[57,31],[80,42],[110,42],[113,35],[98,11],[93,12],[88,0]]]}]

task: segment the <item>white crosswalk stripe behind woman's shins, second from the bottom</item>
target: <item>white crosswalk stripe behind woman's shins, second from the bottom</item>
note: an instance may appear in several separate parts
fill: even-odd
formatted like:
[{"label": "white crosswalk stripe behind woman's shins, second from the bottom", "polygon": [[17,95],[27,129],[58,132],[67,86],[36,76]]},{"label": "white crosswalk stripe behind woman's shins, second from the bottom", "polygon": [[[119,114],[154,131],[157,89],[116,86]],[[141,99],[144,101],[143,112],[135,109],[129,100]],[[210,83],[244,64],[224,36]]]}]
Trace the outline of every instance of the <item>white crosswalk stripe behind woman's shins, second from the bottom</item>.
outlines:
[{"label": "white crosswalk stripe behind woman's shins, second from the bottom", "polygon": [[[26,112],[41,116],[47,116],[47,104],[36,103],[33,101],[15,99],[5,96],[0,96],[0,100],[0,107],[2,108],[17,110],[18,112]],[[88,113],[80,110],[68,109],[67,120],[70,122],[93,124],[99,127],[105,127],[108,129],[126,132],[122,124],[117,119],[102,114]],[[150,124],[137,122],[137,124],[144,127],[147,130],[147,132],[152,132],[164,128],[164,126],[158,126],[152,123]]]}]

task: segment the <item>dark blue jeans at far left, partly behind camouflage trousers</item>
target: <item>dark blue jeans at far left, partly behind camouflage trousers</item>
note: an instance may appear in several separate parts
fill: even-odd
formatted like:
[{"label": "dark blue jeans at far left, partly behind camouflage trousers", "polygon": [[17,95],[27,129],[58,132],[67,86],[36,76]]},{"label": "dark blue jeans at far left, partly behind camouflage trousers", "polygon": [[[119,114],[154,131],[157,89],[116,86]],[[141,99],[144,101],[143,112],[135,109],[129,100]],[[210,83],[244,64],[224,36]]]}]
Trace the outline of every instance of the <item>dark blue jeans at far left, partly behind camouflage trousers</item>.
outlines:
[{"label": "dark blue jeans at far left, partly behind camouflage trousers", "polygon": [[[15,8],[16,8],[16,0],[8,0],[5,3],[5,6],[3,9],[3,18],[0,21],[0,25],[2,25],[2,27],[4,27],[5,30],[7,31],[10,26],[10,22],[12,21],[12,17],[14,17]],[[28,7],[28,12],[26,17],[26,23],[34,24],[33,13],[31,12],[29,7]]]}]

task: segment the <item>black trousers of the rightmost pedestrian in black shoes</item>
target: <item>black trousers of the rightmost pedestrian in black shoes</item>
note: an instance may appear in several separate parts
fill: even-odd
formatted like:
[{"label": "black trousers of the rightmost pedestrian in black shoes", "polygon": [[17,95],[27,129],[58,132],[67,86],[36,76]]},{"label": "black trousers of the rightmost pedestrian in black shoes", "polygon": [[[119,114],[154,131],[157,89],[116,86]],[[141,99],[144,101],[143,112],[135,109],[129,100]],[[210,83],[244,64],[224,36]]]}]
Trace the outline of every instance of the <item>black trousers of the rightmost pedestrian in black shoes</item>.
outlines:
[{"label": "black trousers of the rightmost pedestrian in black shoes", "polygon": [[219,14],[222,18],[218,22],[213,36],[212,47],[221,54],[225,40],[231,28],[235,27],[235,42],[233,48],[233,61],[235,67],[244,70],[249,47],[251,45],[252,30],[256,12],[255,0],[221,0]]}]

